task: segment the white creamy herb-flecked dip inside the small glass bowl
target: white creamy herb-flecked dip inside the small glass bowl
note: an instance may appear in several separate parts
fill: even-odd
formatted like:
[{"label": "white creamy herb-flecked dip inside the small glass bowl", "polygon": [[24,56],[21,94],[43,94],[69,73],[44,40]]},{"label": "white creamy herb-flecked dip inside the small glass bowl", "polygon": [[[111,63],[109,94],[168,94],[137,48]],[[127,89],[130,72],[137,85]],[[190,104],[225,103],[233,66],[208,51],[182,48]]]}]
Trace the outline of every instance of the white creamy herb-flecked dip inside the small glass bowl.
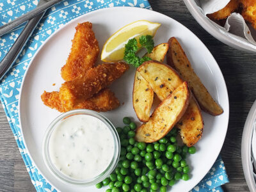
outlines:
[{"label": "white creamy herb-flecked dip inside the small glass bowl", "polygon": [[77,180],[92,179],[104,172],[113,159],[113,135],[94,116],[68,116],[52,132],[49,155],[64,175]]}]

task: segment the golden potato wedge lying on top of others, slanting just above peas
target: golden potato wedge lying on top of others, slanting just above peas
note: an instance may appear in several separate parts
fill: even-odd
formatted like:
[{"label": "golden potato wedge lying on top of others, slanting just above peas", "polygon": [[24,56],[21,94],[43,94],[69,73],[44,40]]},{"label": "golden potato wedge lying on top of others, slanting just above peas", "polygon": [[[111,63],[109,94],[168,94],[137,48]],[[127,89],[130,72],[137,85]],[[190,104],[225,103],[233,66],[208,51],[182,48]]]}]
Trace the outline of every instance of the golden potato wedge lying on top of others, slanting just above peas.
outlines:
[{"label": "golden potato wedge lying on top of others, slanting just above peas", "polygon": [[159,104],[147,123],[138,127],[135,139],[152,143],[163,138],[184,115],[189,100],[188,83],[184,82]]}]

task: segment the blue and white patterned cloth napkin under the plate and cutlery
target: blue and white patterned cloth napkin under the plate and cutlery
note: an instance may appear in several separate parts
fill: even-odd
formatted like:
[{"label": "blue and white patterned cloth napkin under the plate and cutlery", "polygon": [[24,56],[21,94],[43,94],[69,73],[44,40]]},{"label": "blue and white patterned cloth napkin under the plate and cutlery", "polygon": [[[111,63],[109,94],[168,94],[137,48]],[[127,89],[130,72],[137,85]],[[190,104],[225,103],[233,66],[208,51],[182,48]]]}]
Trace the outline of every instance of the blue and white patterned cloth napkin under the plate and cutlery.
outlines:
[{"label": "blue and white patterned cloth napkin under the plate and cutlery", "polygon": [[[29,12],[38,4],[38,0],[0,0],[0,22],[5,24],[10,22],[23,13]],[[26,68],[28,68],[29,61],[33,58],[36,50],[44,43],[46,38],[56,31],[60,26],[69,22],[70,20],[100,8],[107,8],[113,6],[137,6],[141,8],[150,9],[150,4],[147,0],[70,0],[62,1],[50,8],[44,15],[43,19],[38,24],[35,32],[28,41],[28,44],[20,54],[15,65],[10,72],[0,82],[0,100],[3,104],[8,122],[17,141],[20,154],[24,160],[31,181],[36,188],[36,191],[56,191],[42,177],[33,162],[31,162],[20,134],[19,116],[18,116],[18,99],[19,90],[22,78]],[[1,25],[0,24],[0,25]],[[0,37],[0,60],[12,44],[15,42],[17,36],[22,31],[24,24],[10,33]],[[223,191],[221,185],[228,182],[225,166],[221,157],[218,157],[214,166],[205,178],[192,189],[195,191]]]}]

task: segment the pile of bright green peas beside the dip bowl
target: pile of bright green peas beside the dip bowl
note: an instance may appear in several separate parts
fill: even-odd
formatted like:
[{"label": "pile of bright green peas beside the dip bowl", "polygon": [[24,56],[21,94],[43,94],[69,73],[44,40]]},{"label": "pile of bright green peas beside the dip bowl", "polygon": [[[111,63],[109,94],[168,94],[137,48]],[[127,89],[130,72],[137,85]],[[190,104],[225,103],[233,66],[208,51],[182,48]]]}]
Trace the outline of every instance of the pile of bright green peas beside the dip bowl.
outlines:
[{"label": "pile of bright green peas beside the dip bowl", "polygon": [[[136,124],[124,117],[124,128],[117,127],[120,137],[120,158],[115,171],[96,184],[96,188],[109,186],[106,192],[167,191],[178,180],[189,180],[187,154],[195,154],[195,147],[177,144],[177,129],[154,143],[134,140]],[[149,189],[149,190],[148,190]]]}]

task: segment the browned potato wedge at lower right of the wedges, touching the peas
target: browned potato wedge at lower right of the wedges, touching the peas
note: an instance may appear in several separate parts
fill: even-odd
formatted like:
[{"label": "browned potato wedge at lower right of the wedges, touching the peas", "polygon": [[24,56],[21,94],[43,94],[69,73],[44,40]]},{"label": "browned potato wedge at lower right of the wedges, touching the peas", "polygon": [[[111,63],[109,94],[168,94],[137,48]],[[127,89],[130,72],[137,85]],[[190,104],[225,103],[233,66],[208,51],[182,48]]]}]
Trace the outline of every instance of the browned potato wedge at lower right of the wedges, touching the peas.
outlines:
[{"label": "browned potato wedge at lower right of the wedges, touching the peas", "polygon": [[[198,110],[199,109],[199,110]],[[202,137],[204,120],[200,108],[192,95],[186,113],[175,125],[180,129],[180,137],[184,144],[191,147]]]}]

